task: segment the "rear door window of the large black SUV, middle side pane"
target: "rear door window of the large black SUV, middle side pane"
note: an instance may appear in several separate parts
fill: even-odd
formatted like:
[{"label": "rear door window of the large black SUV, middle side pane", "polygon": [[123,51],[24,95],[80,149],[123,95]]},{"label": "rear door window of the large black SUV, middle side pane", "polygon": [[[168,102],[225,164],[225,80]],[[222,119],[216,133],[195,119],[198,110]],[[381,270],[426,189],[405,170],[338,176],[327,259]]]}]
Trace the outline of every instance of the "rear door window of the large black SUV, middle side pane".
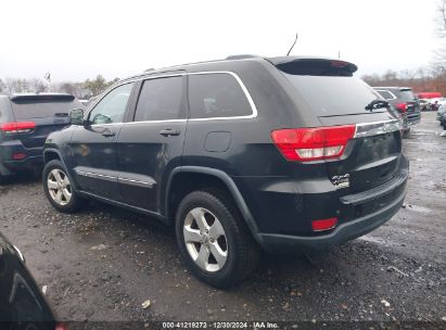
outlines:
[{"label": "rear door window of the large black SUV, middle side pane", "polygon": [[139,96],[135,122],[184,118],[182,76],[145,80]]}]

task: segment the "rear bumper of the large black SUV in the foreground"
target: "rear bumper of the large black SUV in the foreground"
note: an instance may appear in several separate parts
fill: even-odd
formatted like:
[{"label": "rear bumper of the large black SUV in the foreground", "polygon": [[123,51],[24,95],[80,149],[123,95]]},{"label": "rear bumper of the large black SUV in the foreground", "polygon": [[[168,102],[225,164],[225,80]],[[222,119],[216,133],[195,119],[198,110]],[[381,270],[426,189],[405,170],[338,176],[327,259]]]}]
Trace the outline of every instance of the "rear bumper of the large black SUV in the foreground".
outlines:
[{"label": "rear bumper of the large black SUV in the foreground", "polygon": [[[259,227],[256,239],[264,250],[273,253],[328,250],[356,239],[380,227],[399,211],[406,196],[408,176],[409,164],[402,156],[399,170],[392,180],[368,191],[343,196],[329,192],[313,193],[311,199],[304,199],[305,211],[302,213],[297,212],[302,208],[296,208],[300,194],[276,193],[276,199],[264,201],[264,214],[254,214]],[[290,203],[292,195],[294,204]],[[283,199],[288,201],[288,206],[278,204]],[[268,208],[271,210],[269,214]],[[313,231],[313,219],[333,216],[339,218],[339,225],[333,230]]]}]

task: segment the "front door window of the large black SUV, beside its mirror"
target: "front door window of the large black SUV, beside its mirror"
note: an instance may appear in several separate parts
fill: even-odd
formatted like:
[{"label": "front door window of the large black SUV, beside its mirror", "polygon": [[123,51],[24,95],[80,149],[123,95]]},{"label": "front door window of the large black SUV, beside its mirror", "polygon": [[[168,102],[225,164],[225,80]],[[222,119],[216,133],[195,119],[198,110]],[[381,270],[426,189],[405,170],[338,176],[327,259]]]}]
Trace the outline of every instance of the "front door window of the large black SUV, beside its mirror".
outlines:
[{"label": "front door window of the large black SUV, beside its mirror", "polygon": [[133,82],[122,85],[109,92],[90,112],[92,124],[122,123]]}]

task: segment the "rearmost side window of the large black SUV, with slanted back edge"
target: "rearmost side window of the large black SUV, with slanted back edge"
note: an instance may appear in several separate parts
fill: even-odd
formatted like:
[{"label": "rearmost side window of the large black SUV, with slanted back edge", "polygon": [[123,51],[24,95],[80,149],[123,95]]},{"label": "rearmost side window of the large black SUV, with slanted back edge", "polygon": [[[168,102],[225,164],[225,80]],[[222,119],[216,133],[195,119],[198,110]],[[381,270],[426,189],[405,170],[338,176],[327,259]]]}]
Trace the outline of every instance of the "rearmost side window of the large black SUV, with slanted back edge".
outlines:
[{"label": "rearmost side window of the large black SUV, with slanted back edge", "polygon": [[191,118],[249,116],[253,113],[240,84],[229,74],[189,76]]}]

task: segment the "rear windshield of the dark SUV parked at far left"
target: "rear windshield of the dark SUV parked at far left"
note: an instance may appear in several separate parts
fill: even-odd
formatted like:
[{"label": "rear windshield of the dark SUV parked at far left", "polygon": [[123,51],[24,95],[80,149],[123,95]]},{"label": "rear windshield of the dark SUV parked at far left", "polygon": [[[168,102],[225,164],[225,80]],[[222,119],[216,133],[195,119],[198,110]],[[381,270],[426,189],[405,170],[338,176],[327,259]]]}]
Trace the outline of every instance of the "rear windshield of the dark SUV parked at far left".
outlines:
[{"label": "rear windshield of the dark SUV parked at far left", "polygon": [[72,109],[82,107],[77,100],[17,100],[11,102],[16,120],[53,117],[55,114],[67,115]]}]

